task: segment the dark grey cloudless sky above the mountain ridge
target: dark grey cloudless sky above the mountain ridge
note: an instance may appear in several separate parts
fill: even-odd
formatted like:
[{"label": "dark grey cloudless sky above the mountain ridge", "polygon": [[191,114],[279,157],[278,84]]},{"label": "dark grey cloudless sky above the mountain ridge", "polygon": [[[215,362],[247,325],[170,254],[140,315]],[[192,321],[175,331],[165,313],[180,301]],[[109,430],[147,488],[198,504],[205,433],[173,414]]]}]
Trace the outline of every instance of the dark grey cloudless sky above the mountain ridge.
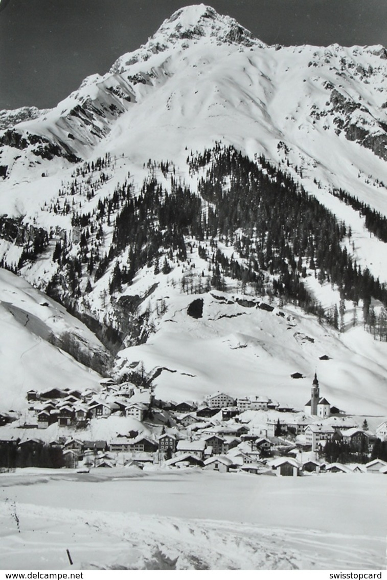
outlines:
[{"label": "dark grey cloudless sky above the mountain ridge", "polygon": [[[53,107],[195,0],[0,0],[0,109]],[[200,2],[197,2],[200,3]],[[211,0],[268,44],[387,45],[387,0]]]}]

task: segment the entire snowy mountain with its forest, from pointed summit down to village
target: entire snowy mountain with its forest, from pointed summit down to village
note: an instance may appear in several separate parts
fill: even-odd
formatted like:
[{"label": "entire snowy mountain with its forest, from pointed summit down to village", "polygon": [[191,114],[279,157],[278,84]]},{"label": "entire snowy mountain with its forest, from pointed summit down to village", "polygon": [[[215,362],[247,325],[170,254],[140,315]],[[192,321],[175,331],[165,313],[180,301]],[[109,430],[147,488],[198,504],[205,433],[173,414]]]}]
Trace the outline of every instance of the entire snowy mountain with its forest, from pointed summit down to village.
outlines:
[{"label": "entire snowy mountain with its forest, from pointed summit down to village", "polygon": [[[114,356],[119,351],[117,377],[143,361],[163,396],[196,398],[227,387],[302,405],[319,357],[328,354],[320,380],[333,403],[359,413],[386,409],[386,343],[366,333],[362,318],[368,274],[374,316],[385,316],[386,59],[382,46],[267,46],[209,6],[178,10],[145,45],[105,75],[86,78],[57,107],[0,115],[2,265],[60,299]],[[259,168],[256,177],[248,170],[252,187],[267,187],[267,176],[281,190],[289,178],[295,197],[302,187],[305,200],[318,200],[320,223],[336,222],[332,253],[345,251],[349,270],[361,269],[351,289],[340,287],[333,263],[325,273],[315,266],[316,225],[304,253],[294,250],[291,232],[285,242],[322,311],[340,303],[341,333],[319,322],[316,309],[305,315],[300,304],[286,305],[266,254],[250,276],[267,235],[257,223],[233,230],[230,215],[231,225],[223,220],[223,230],[208,233],[222,202],[203,180],[215,193],[233,189],[234,170],[216,176],[219,151],[228,146],[245,156],[238,162]],[[190,218],[176,218],[185,205],[179,187]],[[338,197],[339,189],[352,198]],[[355,197],[374,212],[372,234]],[[222,256],[238,262],[233,275]],[[289,256],[285,262],[290,269]],[[222,288],[220,301],[211,288]],[[254,293],[274,311],[241,296]],[[199,295],[204,307],[196,319],[187,309]],[[378,332],[382,338],[384,318]],[[290,379],[295,371],[307,376],[302,390]]]}]

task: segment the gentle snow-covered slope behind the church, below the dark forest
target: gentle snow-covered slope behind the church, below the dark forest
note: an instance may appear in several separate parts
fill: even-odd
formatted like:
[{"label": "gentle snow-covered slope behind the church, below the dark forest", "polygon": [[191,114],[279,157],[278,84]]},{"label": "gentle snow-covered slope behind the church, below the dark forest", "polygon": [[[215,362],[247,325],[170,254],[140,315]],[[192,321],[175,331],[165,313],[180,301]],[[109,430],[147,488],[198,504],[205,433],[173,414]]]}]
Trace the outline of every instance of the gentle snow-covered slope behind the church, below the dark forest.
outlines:
[{"label": "gentle snow-covered slope behind the church, below the dark forest", "polygon": [[[118,376],[143,361],[150,374],[165,369],[154,385],[156,395],[167,400],[202,400],[222,390],[235,397],[268,396],[303,410],[317,372],[331,405],[351,414],[387,412],[387,343],[375,342],[362,328],[339,333],[290,305],[273,304],[268,312],[222,302],[221,292],[177,295],[161,284],[152,301],[168,296],[167,312],[145,344],[120,351]],[[231,301],[233,295],[223,296]],[[204,300],[203,316],[195,319],[187,307],[198,298]],[[320,360],[323,355],[330,360]],[[292,379],[294,372],[305,378]]]}]

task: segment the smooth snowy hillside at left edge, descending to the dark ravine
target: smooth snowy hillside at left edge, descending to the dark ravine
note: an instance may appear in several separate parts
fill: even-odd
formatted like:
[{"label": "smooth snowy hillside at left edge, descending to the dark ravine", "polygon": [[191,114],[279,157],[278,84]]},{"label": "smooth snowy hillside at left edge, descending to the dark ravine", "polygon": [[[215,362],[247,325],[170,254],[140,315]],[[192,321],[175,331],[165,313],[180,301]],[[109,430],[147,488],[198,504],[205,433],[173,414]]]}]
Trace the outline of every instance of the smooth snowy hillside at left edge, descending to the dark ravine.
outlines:
[{"label": "smooth snowy hillside at left edge, descending to the dark ravine", "polygon": [[[101,376],[79,358],[108,360],[99,340],[54,300],[14,274],[0,270],[0,411],[21,410],[30,389],[82,390],[98,387]],[[68,339],[66,339],[68,337]],[[70,338],[71,337],[71,338]]]}]

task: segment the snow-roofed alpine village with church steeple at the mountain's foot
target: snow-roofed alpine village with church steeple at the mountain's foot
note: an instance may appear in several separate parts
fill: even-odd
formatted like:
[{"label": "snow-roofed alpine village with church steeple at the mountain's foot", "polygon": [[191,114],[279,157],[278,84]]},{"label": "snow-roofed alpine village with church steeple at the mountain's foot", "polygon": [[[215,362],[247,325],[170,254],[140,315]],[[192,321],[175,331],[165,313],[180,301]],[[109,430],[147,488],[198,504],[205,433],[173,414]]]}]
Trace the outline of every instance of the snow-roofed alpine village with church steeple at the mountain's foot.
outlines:
[{"label": "snow-roofed alpine village with church steeple at the mountain's foot", "polygon": [[[176,404],[157,400],[149,385],[113,379],[102,380],[99,391],[30,390],[27,405],[18,418],[0,415],[2,472],[35,466],[80,473],[197,467],[278,476],[387,474],[387,420],[374,430],[366,419],[360,426],[320,397],[316,374],[304,411],[220,391],[200,403]],[[99,422],[112,426],[110,436],[92,437]]]}]

